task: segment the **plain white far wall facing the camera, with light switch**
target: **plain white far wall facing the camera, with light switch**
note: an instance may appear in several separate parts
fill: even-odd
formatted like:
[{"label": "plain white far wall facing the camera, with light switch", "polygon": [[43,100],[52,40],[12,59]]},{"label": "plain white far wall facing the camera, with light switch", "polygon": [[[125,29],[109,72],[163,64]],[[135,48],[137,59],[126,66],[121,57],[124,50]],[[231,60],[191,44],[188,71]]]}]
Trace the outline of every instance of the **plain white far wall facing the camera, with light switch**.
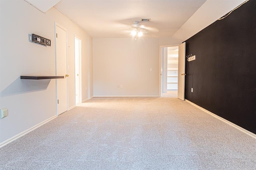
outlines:
[{"label": "plain white far wall facing the camera, with light switch", "polygon": [[93,72],[94,96],[158,96],[158,38],[94,38]]}]

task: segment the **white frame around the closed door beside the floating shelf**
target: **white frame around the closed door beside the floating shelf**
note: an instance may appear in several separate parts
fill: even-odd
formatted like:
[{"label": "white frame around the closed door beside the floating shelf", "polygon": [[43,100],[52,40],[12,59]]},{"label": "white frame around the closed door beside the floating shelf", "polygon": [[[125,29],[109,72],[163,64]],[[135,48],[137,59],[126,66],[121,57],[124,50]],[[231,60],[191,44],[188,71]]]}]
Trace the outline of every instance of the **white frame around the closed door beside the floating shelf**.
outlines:
[{"label": "white frame around the closed door beside the floating shelf", "polygon": [[[57,76],[57,60],[56,60],[56,27],[61,28],[62,30],[66,31],[66,74],[68,73],[68,30],[63,27],[62,25],[58,24],[58,22],[54,22],[54,45],[55,45],[55,75]],[[57,79],[55,79],[55,84],[56,84],[56,115],[58,116],[58,93],[57,93]],[[68,79],[66,80],[67,83],[67,110],[68,111]]]}]

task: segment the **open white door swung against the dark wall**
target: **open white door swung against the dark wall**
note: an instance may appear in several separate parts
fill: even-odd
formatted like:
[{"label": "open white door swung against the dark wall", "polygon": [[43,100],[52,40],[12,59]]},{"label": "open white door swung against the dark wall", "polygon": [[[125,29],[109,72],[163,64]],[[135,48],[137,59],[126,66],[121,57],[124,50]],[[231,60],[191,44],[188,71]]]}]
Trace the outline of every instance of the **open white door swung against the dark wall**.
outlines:
[{"label": "open white door swung against the dark wall", "polygon": [[186,55],[186,42],[179,45],[178,98],[181,100],[185,100],[185,55]]}]

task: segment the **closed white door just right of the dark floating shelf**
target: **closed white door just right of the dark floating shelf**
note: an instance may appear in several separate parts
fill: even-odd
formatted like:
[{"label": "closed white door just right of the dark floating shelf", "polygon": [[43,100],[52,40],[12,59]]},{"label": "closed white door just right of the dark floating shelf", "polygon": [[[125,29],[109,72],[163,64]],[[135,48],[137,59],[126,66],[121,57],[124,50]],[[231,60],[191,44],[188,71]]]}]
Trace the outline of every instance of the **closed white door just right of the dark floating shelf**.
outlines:
[{"label": "closed white door just right of the dark floating shelf", "polygon": [[68,110],[67,88],[67,36],[66,30],[56,24],[56,75],[64,76],[64,79],[56,79],[57,114]]}]

